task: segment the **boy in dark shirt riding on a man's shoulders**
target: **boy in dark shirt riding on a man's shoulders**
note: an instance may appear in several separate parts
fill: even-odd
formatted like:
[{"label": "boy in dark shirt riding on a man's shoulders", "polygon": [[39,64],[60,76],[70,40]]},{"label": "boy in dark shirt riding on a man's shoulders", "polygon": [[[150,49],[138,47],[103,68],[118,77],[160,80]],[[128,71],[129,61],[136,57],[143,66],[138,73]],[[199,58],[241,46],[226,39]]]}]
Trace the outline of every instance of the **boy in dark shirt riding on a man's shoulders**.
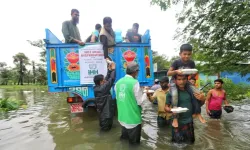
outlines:
[{"label": "boy in dark shirt riding on a man's shoulders", "polygon": [[[169,71],[167,73],[168,76],[174,76],[174,75],[183,75],[181,69],[193,69],[195,68],[195,63],[193,60],[191,60],[191,55],[192,55],[192,46],[190,44],[183,44],[180,47],[180,59],[175,60],[171,67],[169,68]],[[194,76],[194,75],[192,75]],[[187,84],[188,89],[192,91],[191,84],[188,82]],[[176,84],[174,82],[174,79],[171,78],[170,80],[170,93],[172,97],[172,105],[173,107],[177,107],[178,105],[178,91],[176,88]],[[192,92],[194,93],[194,92]],[[199,120],[202,123],[205,123],[206,120],[201,116],[201,106],[204,104],[205,97],[201,93],[194,93],[195,97],[199,97],[199,99],[192,99],[192,104],[193,104],[193,117],[198,117]],[[175,118],[173,120],[172,125],[174,127],[178,127],[178,114],[173,114],[173,117]]]}]

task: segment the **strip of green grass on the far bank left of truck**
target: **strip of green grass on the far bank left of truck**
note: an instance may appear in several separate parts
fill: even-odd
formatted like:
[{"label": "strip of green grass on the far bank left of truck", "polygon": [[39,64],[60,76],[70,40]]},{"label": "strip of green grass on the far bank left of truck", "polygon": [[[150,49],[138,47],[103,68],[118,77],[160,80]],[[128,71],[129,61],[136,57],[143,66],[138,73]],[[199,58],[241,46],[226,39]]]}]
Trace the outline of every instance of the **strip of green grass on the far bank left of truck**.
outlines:
[{"label": "strip of green grass on the far bank left of truck", "polygon": [[0,89],[12,89],[12,90],[21,90],[21,89],[43,89],[47,90],[47,85],[0,85]]}]

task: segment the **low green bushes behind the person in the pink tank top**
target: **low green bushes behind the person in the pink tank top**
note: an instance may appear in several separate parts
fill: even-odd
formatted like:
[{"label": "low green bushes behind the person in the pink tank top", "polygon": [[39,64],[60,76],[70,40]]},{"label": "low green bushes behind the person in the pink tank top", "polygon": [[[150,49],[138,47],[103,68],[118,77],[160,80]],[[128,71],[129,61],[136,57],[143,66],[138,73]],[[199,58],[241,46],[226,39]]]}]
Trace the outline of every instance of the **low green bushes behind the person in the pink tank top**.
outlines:
[{"label": "low green bushes behind the person in the pink tank top", "polygon": [[[250,85],[244,84],[244,83],[239,83],[239,84],[234,84],[232,80],[230,79],[223,79],[224,84],[223,84],[223,89],[227,93],[227,99],[229,100],[242,100],[245,98],[250,98]],[[209,86],[204,88],[202,91],[204,93],[207,93],[210,89],[213,88],[213,81],[207,80],[206,82],[201,80],[200,81],[200,86],[204,86],[206,83],[210,83]]]}]

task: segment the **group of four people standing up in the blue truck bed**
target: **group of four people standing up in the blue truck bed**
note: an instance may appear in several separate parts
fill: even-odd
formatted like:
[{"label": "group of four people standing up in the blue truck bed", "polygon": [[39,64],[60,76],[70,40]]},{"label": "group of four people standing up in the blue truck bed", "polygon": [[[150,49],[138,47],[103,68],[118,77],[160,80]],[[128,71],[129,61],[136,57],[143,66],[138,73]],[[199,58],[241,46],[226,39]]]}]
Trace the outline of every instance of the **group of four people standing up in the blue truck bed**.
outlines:
[{"label": "group of four people standing up in the blue truck bed", "polygon": [[[62,24],[62,33],[65,38],[65,43],[76,43],[85,45],[85,43],[101,42],[104,50],[104,58],[112,61],[109,53],[114,51],[115,46],[115,33],[112,28],[112,18],[103,18],[103,27],[101,24],[95,25],[95,30],[91,35],[82,41],[77,24],[79,23],[79,11],[77,9],[71,10],[71,20],[64,21]],[[132,43],[140,43],[141,35],[138,33],[139,24],[134,23],[132,29],[128,29],[125,41]]]}]

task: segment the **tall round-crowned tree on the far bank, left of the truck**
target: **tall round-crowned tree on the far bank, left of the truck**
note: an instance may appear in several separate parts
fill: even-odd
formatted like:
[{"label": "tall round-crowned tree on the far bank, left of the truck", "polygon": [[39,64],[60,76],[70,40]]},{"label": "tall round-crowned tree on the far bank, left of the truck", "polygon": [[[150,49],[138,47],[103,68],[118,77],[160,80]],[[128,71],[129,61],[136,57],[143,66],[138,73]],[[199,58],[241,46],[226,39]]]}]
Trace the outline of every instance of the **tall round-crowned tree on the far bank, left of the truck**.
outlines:
[{"label": "tall round-crowned tree on the far bank, left of the truck", "polygon": [[26,66],[29,65],[29,58],[24,53],[18,53],[13,56],[13,59],[13,62],[16,65],[16,68],[18,68],[19,73],[18,85],[23,85],[23,78],[25,71],[27,71]]}]

